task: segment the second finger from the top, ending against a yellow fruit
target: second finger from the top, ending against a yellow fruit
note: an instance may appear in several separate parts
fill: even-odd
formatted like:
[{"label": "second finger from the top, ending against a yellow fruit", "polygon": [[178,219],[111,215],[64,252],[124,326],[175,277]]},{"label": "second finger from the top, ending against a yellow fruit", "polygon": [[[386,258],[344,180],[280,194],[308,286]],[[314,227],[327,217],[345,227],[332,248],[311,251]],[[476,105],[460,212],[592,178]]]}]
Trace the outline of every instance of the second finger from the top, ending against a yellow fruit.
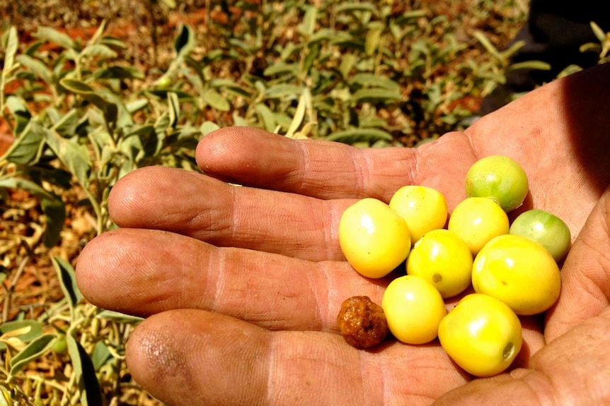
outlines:
[{"label": "second finger from the top, ending against a yellow fruit", "polygon": [[120,179],[110,214],[120,227],[163,229],[217,246],[343,260],[338,222],[352,201],[231,186],[196,172],[145,167]]}]

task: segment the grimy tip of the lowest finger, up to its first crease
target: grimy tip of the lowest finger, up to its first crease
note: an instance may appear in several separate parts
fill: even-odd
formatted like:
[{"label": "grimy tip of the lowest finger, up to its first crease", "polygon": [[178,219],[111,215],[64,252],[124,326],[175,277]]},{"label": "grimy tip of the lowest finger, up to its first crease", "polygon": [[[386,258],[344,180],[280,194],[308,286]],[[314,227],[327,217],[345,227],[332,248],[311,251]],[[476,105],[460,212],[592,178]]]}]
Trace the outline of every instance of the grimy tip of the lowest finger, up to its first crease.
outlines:
[{"label": "grimy tip of the lowest finger, up to its first crease", "polygon": [[[191,316],[192,321],[188,317]],[[127,348],[127,364],[134,373],[142,376],[142,381],[150,385],[157,398],[166,402],[183,399],[182,406],[190,405],[255,405],[261,404],[257,393],[263,393],[258,380],[248,381],[249,373],[261,374],[261,360],[267,354],[266,330],[233,320],[220,325],[217,315],[205,311],[170,311],[152,316],[142,323],[132,334]],[[151,323],[156,321],[156,323]],[[209,326],[206,333],[202,326]],[[246,328],[244,328],[246,327]],[[181,334],[171,335],[170,331],[180,330]],[[200,351],[190,356],[195,349]],[[225,359],[232,359],[227,364]],[[221,370],[229,366],[231,372],[219,374],[207,381],[200,381],[191,371],[212,368]],[[240,371],[240,372],[238,372]],[[246,381],[244,381],[246,380]],[[246,382],[251,390],[239,392],[231,390],[235,382]],[[171,390],[159,390],[170,386]],[[223,388],[223,390],[214,390]]]}]

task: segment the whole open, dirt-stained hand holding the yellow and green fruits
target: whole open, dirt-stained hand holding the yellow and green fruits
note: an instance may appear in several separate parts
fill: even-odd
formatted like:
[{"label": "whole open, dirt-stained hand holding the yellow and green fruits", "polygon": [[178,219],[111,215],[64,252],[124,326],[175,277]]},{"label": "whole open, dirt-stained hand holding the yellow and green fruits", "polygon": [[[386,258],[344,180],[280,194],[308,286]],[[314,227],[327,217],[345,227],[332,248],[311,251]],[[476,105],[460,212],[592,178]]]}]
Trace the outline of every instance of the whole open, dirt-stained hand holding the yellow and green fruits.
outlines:
[{"label": "whole open, dirt-stained hand holding the yellow and green fruits", "polygon": [[[602,76],[610,77],[609,72],[610,66],[595,69],[589,85],[602,80]],[[206,173],[217,179],[247,181],[251,186],[272,190],[239,187],[231,189],[235,196],[228,196],[228,185],[212,181],[204,174],[197,174],[200,179],[195,179],[171,169],[156,172],[151,169],[128,175],[122,179],[125,180],[123,192],[127,193],[129,186],[132,198],[142,196],[144,191],[146,199],[132,200],[129,203],[132,206],[120,213],[124,210],[120,207],[123,192],[117,186],[113,193],[117,193],[114,198],[118,204],[111,210],[113,216],[122,216],[123,222],[131,222],[137,229],[104,234],[96,238],[100,242],[86,246],[76,270],[81,291],[87,299],[104,308],[112,306],[130,314],[154,314],[134,331],[127,348],[127,362],[132,375],[144,388],[154,390],[154,395],[174,405],[295,405],[299,400],[305,404],[342,405],[346,399],[355,404],[373,402],[372,397],[382,396],[381,393],[386,398],[379,398],[379,402],[390,405],[429,405],[435,398],[439,398],[439,405],[451,406],[505,406],[510,402],[534,406],[578,405],[579,402],[587,402],[588,406],[596,401],[603,404],[609,398],[604,391],[610,389],[605,384],[610,381],[607,367],[610,365],[607,340],[610,314],[607,310],[600,312],[601,302],[594,299],[607,299],[609,287],[597,273],[606,272],[609,264],[599,263],[606,261],[607,256],[593,257],[603,249],[594,251],[588,246],[593,246],[595,241],[608,246],[609,241],[607,220],[604,220],[608,218],[609,203],[600,201],[592,213],[589,210],[603,191],[600,185],[606,181],[605,188],[610,177],[607,163],[610,161],[597,145],[607,142],[604,137],[609,133],[610,121],[601,110],[572,107],[582,102],[590,104],[592,95],[597,105],[609,102],[610,82],[606,78],[600,82],[602,85],[592,88],[579,79],[582,77],[576,73],[551,83],[549,86],[555,92],[534,90],[519,98],[512,107],[478,120],[465,134],[451,133],[447,138],[443,136],[439,141],[423,145],[418,149],[420,156],[415,169],[411,167],[415,162],[414,150],[352,150],[347,145],[309,141],[295,145],[297,141],[260,131],[221,129],[202,138],[197,150],[197,159]],[[572,106],[568,112],[570,117],[563,117],[565,107],[548,99],[568,88],[572,93],[563,97],[563,102],[571,100]],[[580,120],[586,126],[576,128],[560,120]],[[524,139],[532,136],[529,130],[540,133],[536,139],[529,140],[529,145],[524,145]],[[593,133],[598,133],[594,143],[587,142],[587,136]],[[576,142],[580,143],[578,148]],[[470,143],[475,145],[474,150]],[[294,169],[302,159],[295,148],[306,150],[311,155],[310,165],[320,171],[324,169],[327,176],[323,177],[323,172],[315,172],[315,167],[310,166],[308,170],[312,173],[300,174],[305,179],[294,179],[297,173]],[[213,157],[202,155],[214,149]],[[559,163],[553,165],[553,160],[541,159],[548,149],[556,154]],[[572,231],[578,235],[575,242],[587,242],[575,244],[568,254],[562,270],[568,294],[562,295],[565,299],[560,299],[548,313],[546,325],[536,328],[535,321],[529,320],[531,326],[524,333],[529,351],[519,359],[517,369],[495,379],[466,383],[471,376],[461,373],[438,343],[411,347],[394,342],[382,345],[376,352],[365,353],[346,345],[333,330],[335,315],[330,310],[340,300],[328,303],[326,313],[320,311],[323,304],[318,301],[323,300],[324,292],[329,295],[329,301],[333,300],[333,294],[343,299],[355,292],[379,297],[387,280],[365,280],[343,261],[325,261],[329,251],[322,245],[328,243],[332,232],[318,229],[319,221],[330,221],[333,210],[339,213],[359,196],[374,194],[387,200],[408,181],[439,186],[439,190],[447,192],[451,207],[451,202],[456,203],[464,196],[461,181],[468,164],[474,162],[474,154],[491,152],[518,155],[518,162],[523,162],[526,172],[533,171],[531,203],[541,203],[542,208],[562,218],[571,216]],[[362,187],[375,190],[357,190],[354,182],[358,172],[350,157],[354,153],[367,154],[369,163],[365,164],[362,159],[361,162],[368,165],[370,179]],[[570,157],[577,160],[563,162]],[[594,168],[597,172],[592,174]],[[577,176],[570,177],[568,173]],[[407,179],[410,174],[418,176]],[[144,177],[151,178],[148,184]],[[191,185],[185,184],[184,179],[189,179]],[[172,184],[175,190],[166,187],[146,191],[158,181]],[[307,196],[328,200],[321,204]],[[561,198],[551,201],[552,196]],[[216,197],[218,200],[213,201]],[[229,198],[235,199],[233,210],[241,210],[240,232],[212,234],[209,229],[214,225],[200,224],[197,231],[193,229],[196,225],[189,223],[190,228],[185,228],[185,223],[181,223],[188,219],[189,213],[180,211],[190,208],[209,205],[210,211],[215,208],[215,213],[223,215],[222,207],[230,205],[225,201]],[[138,204],[139,208],[134,207]],[[278,207],[270,210],[270,204]],[[162,210],[170,210],[174,217],[160,216]],[[316,210],[317,213],[311,213]],[[309,220],[309,224],[308,212],[318,217]],[[263,220],[256,217],[265,213],[272,214]],[[589,220],[585,223],[587,217]],[[169,224],[170,220],[175,224]],[[164,222],[161,224],[164,231],[145,229],[156,227],[159,221]],[[201,221],[206,220],[201,217]],[[300,231],[299,239],[294,229]],[[189,234],[204,241],[184,237]],[[248,234],[253,237],[251,241],[246,241]],[[211,239],[214,246],[208,244]],[[278,244],[282,239],[283,245]],[[267,244],[269,241],[272,244]],[[134,260],[126,250],[133,250],[139,257]],[[323,262],[314,263],[319,258]],[[179,266],[176,261],[180,261]],[[217,261],[226,263],[221,267]],[[214,289],[219,289],[214,282],[219,272],[223,273],[224,289],[214,301]],[[172,283],[173,277],[180,277],[180,273],[187,275],[183,276],[187,282]],[[306,280],[306,273],[319,275]],[[590,297],[583,290],[587,287],[583,281],[587,279],[579,280],[572,273],[588,274],[589,280],[601,283],[600,289],[606,292],[597,298]],[[320,284],[315,287],[317,297],[310,283]],[[568,289],[568,285],[574,286]],[[186,290],[180,306],[200,309],[175,309],[178,301],[171,301],[172,294],[180,294],[182,287]],[[166,301],[150,301],[155,294],[165,295]],[[577,306],[577,311],[572,306]],[[587,311],[593,316],[582,321]],[[308,331],[309,326],[323,331]],[[553,340],[547,340],[545,345],[542,333]],[[168,352],[182,352],[181,356],[188,358],[181,364],[188,371],[174,369],[175,376],[165,374],[163,381],[155,380],[166,369],[163,364],[155,364],[154,359],[144,357],[141,352],[146,346],[139,345],[142,338],[155,335],[156,345],[161,345],[159,340],[166,340]],[[268,359],[271,341],[272,363]],[[166,368],[171,362],[179,364],[179,357],[166,360]],[[367,369],[362,371],[361,366]],[[267,376],[267,371],[274,376]],[[190,386],[185,384],[186,375],[192,379]],[[363,383],[367,386],[362,387]],[[594,391],[596,383],[601,384]],[[452,391],[447,393],[449,390]],[[583,390],[590,392],[583,394]]]}]

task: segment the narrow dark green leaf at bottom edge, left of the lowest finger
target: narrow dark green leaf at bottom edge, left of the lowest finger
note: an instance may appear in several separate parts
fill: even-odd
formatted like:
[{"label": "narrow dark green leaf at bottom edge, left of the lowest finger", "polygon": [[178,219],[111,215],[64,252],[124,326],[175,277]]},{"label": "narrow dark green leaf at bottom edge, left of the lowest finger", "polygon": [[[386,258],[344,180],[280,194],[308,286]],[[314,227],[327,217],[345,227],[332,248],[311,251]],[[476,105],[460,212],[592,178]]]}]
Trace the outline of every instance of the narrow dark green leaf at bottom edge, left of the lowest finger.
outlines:
[{"label": "narrow dark green leaf at bottom edge, left of the lowest finger", "polygon": [[76,374],[76,382],[79,383],[82,406],[103,406],[100,383],[96,376],[91,357],[84,347],[74,338],[74,331],[70,328],[66,335],[68,354]]}]

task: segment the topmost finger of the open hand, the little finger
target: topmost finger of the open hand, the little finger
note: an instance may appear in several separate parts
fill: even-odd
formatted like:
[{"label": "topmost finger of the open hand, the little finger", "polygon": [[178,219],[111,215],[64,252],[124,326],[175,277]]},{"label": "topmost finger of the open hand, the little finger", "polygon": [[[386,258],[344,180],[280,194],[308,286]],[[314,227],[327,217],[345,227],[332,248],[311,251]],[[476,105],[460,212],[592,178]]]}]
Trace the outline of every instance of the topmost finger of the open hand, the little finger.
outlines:
[{"label": "topmost finger of the open hand, the little finger", "polygon": [[401,186],[422,184],[447,193],[451,203],[463,196],[456,180],[475,159],[461,133],[443,136],[435,148],[354,148],[247,127],[220,129],[202,138],[196,157],[210,176],[264,189],[389,201]]}]

